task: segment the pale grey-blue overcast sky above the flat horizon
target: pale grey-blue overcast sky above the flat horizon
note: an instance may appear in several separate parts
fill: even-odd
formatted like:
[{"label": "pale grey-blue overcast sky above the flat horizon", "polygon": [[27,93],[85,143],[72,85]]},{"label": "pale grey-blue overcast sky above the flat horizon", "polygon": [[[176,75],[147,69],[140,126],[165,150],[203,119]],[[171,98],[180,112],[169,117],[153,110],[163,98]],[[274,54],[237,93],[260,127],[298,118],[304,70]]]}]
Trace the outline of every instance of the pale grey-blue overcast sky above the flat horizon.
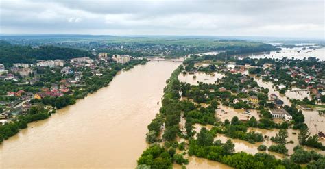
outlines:
[{"label": "pale grey-blue overcast sky above the flat horizon", "polygon": [[1,0],[1,34],[324,39],[324,0]]}]

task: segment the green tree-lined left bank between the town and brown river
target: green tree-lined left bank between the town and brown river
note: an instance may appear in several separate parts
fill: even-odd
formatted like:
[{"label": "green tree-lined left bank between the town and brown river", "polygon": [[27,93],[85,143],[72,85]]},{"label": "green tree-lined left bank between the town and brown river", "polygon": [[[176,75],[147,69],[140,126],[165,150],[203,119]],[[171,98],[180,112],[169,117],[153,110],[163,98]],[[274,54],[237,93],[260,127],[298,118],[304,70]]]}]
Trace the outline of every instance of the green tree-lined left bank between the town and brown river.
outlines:
[{"label": "green tree-lined left bank between the town and brown river", "polygon": [[[84,99],[85,96],[97,91],[99,88],[108,86],[110,81],[112,81],[112,78],[117,75],[118,71],[129,70],[130,68],[133,68],[134,65],[145,64],[146,62],[147,60],[132,60],[128,64],[110,65],[113,67],[106,66],[104,68],[104,74],[101,74],[101,77],[91,77],[87,75],[86,78],[82,79],[85,81],[82,88],[73,88],[74,91],[71,94],[43,97],[36,97],[37,94],[35,94],[34,99],[28,100],[34,105],[27,110],[26,114],[12,118],[10,122],[0,125],[0,144],[3,142],[3,140],[16,135],[16,133],[19,133],[21,129],[27,128],[27,124],[29,122],[45,120],[49,118],[51,114],[54,114],[56,109],[62,109],[68,105],[73,105],[77,99]],[[68,88],[68,90],[70,89]],[[46,91],[48,92],[48,88]],[[40,94],[38,94],[38,96],[39,95]]]}]

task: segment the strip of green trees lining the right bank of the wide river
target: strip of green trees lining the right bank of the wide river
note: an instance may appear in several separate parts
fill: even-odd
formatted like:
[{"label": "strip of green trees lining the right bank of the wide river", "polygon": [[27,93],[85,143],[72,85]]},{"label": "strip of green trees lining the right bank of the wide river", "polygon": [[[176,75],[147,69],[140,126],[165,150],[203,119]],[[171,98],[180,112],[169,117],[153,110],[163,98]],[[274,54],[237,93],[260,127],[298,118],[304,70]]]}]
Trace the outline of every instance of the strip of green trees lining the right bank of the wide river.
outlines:
[{"label": "strip of green trees lining the right bank of the wide river", "polygon": [[[147,142],[154,143],[161,141],[159,135],[163,125],[165,124],[165,130],[163,132],[163,140],[165,144],[173,142],[176,136],[180,133],[179,123],[182,106],[180,104],[180,81],[178,75],[182,71],[183,66],[179,66],[171,73],[171,77],[167,80],[167,86],[164,88],[164,97],[162,101],[162,107],[156,118],[148,125],[149,132],[147,133]],[[153,153],[152,151],[156,151]],[[173,161],[177,160],[178,163],[186,164],[186,160],[181,155],[173,155],[173,153],[167,153],[166,148],[160,146],[152,146],[143,151],[143,154],[138,159],[138,168],[145,166],[151,168],[171,168]],[[176,161],[176,162],[177,162]]]}]

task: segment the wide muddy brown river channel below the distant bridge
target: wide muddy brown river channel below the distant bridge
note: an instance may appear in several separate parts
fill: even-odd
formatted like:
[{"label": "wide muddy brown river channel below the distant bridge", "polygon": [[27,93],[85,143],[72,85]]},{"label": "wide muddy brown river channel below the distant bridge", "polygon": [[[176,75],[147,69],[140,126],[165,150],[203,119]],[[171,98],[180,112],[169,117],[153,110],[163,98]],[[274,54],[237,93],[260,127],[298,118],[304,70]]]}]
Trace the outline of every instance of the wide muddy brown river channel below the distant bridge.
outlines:
[{"label": "wide muddy brown river channel below the distant bridge", "polygon": [[0,168],[135,168],[147,125],[180,63],[148,62],[117,75],[0,145]]}]

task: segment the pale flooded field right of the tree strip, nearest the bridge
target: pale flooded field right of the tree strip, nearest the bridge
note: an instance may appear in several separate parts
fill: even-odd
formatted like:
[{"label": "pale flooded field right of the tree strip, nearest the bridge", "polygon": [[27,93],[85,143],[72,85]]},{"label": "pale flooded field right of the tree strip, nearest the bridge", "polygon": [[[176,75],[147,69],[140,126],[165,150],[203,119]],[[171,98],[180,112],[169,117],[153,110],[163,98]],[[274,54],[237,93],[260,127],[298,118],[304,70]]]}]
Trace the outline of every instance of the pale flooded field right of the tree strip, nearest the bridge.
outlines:
[{"label": "pale flooded field right of the tree strip, nearest the bridge", "polygon": [[[194,77],[195,76],[195,77]],[[197,72],[193,74],[182,74],[178,75],[178,79],[182,82],[190,83],[191,85],[197,85],[197,81],[203,82],[203,83],[208,83],[208,84],[213,84],[217,79],[221,79],[224,77],[221,73],[213,73],[213,74],[206,74],[202,72]]]}]

